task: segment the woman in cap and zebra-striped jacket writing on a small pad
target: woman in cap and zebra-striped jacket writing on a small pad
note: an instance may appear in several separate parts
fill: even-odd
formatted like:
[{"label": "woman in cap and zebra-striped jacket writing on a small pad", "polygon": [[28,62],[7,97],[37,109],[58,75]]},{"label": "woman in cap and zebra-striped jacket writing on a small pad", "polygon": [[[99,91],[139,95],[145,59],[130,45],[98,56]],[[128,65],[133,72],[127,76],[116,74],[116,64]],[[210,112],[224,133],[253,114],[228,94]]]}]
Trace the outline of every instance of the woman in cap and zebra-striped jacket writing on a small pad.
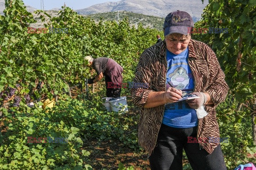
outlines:
[{"label": "woman in cap and zebra-striped jacket writing on a small pad", "polygon": [[[193,169],[226,169],[220,140],[209,140],[220,139],[215,107],[225,100],[229,90],[225,74],[213,50],[191,39],[184,26],[194,27],[188,13],[167,15],[165,39],[140,57],[134,83],[147,83],[148,87],[131,89],[133,103],[141,107],[139,145],[149,153],[151,169],[182,169],[182,149]],[[178,67],[179,63],[185,69]],[[177,102],[186,92],[199,98]],[[186,118],[190,121],[183,126]]]}]

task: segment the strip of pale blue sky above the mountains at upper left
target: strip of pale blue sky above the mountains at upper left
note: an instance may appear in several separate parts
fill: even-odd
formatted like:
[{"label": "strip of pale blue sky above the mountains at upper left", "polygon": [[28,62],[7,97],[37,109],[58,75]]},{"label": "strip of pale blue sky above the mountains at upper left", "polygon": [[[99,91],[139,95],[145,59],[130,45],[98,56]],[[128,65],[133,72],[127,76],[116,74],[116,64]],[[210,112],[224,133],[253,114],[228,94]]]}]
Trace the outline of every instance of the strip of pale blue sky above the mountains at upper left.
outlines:
[{"label": "strip of pale blue sky above the mountains at upper left", "polygon": [[[52,8],[61,8],[61,6],[66,4],[73,10],[83,9],[95,4],[101,4],[105,2],[117,2],[121,0],[43,0],[44,10],[51,10]],[[37,8],[41,10],[41,0],[23,0],[25,5]]]}]

